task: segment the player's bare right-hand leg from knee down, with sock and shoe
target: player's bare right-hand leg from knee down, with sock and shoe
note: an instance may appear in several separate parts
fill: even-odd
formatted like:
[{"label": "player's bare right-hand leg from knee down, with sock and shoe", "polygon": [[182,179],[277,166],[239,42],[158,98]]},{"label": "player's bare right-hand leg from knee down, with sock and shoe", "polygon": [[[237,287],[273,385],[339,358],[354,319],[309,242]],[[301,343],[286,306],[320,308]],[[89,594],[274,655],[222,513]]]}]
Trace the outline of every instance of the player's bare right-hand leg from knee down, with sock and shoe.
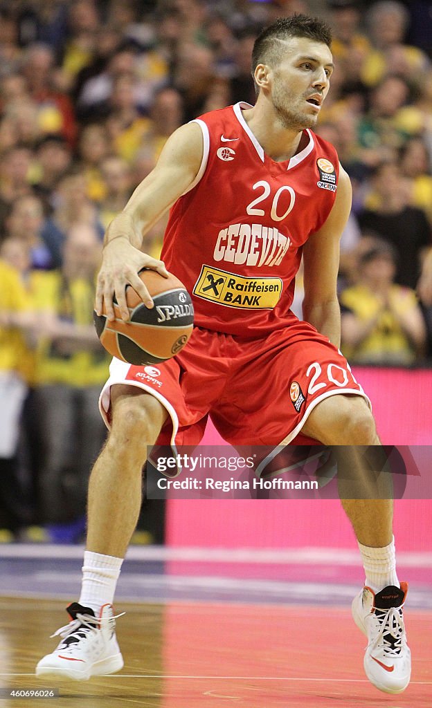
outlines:
[{"label": "player's bare right-hand leg from knee down, with sock and shoe", "polygon": [[360,396],[335,395],[316,405],[302,432],[335,446],[340,501],[366,574],[365,588],[353,601],[355,623],[368,638],[365,672],[380,690],[399,693],[411,675],[402,615],[407,586],[396,573],[392,480],[382,472],[385,455],[375,421]]}]

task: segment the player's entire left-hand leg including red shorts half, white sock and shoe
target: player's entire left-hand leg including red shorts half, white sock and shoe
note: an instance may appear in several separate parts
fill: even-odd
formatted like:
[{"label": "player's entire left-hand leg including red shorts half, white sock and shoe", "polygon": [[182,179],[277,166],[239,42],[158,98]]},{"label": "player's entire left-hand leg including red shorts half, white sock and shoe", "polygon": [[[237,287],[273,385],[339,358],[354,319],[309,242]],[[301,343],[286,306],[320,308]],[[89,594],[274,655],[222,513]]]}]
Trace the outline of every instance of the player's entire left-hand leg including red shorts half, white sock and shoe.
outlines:
[{"label": "player's entire left-hand leg including red shorts half, white sock and shoe", "polygon": [[36,673],[82,680],[123,666],[111,603],[138,520],[147,447],[201,440],[209,398],[224,386],[218,340],[218,333],[196,328],[184,351],[160,366],[111,362],[99,399],[110,433],[89,481],[82,592],[67,608],[72,622],[57,632],[63,641]]}]

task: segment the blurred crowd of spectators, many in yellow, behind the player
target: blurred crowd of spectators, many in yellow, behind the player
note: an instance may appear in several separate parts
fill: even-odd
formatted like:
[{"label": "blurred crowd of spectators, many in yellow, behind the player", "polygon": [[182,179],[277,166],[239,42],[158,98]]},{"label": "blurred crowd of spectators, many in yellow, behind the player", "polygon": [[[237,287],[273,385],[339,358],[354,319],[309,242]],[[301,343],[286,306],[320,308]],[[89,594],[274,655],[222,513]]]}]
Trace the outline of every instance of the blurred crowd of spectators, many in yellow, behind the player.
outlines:
[{"label": "blurred crowd of spectators, many in yellow, behind the player", "polygon": [[[0,1],[0,540],[32,525],[82,536],[105,435],[109,358],[92,324],[104,229],[179,125],[254,103],[255,37],[294,12],[334,32],[316,132],[353,182],[344,353],[375,365],[431,358],[430,3]],[[153,256],[164,228],[145,236]],[[297,293],[301,314],[301,275]]]}]

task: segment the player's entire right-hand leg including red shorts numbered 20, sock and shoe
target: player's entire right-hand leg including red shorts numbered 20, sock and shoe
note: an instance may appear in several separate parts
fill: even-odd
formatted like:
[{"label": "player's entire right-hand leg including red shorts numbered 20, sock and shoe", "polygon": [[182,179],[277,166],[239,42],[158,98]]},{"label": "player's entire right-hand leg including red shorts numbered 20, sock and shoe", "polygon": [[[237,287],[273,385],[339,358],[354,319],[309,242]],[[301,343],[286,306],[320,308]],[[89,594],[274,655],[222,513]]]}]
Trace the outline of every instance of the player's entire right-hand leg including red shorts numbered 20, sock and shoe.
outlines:
[{"label": "player's entire right-hand leg including red shorts numbered 20, sock and shoe", "polygon": [[[236,362],[226,394],[211,412],[228,442],[279,447],[295,443],[301,431],[304,440],[309,436],[333,445],[340,466],[345,465],[345,474],[338,474],[339,493],[360,541],[366,576],[377,590],[362,591],[354,608],[356,622],[370,637],[366,672],[382,690],[403,690],[409,681],[400,611],[405,592],[394,569],[389,476],[372,474],[382,469],[382,448],[367,396],[343,355],[306,322],[293,319],[292,326],[254,341],[253,348],[245,343]],[[272,459],[261,460],[260,474]],[[375,611],[372,603],[381,607]]]}]

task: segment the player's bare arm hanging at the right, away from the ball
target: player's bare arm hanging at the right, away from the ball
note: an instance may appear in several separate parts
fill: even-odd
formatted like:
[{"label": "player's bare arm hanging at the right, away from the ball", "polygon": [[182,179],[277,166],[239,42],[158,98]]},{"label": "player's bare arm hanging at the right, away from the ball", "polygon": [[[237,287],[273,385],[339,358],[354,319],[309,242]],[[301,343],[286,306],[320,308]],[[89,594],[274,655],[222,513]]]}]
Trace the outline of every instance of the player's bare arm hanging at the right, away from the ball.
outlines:
[{"label": "player's bare arm hanging at the right, away from the ball", "polygon": [[336,283],[339,241],[351,209],[348,174],[340,166],[338,190],[326,222],[304,244],[304,319],[335,346],[340,346],[340,307]]}]

